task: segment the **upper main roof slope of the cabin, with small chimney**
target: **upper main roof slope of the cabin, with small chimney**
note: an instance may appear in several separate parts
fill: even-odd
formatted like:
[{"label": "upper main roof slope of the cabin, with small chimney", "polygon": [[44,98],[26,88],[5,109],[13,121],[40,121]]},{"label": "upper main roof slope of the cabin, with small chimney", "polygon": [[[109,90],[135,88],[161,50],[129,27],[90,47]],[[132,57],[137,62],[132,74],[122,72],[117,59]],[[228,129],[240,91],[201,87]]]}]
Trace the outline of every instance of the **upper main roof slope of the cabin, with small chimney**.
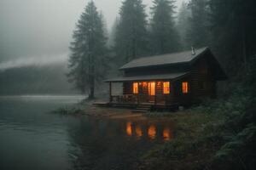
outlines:
[{"label": "upper main roof slope of the cabin, with small chimney", "polygon": [[208,49],[207,47],[196,49],[195,54],[192,54],[191,50],[189,50],[189,51],[173,53],[173,54],[161,54],[161,55],[154,55],[150,57],[143,57],[140,59],[133,59],[129,63],[120,67],[119,69],[126,70],[131,68],[138,68],[138,67],[187,63],[199,57],[201,54],[206,52],[207,49]]}]

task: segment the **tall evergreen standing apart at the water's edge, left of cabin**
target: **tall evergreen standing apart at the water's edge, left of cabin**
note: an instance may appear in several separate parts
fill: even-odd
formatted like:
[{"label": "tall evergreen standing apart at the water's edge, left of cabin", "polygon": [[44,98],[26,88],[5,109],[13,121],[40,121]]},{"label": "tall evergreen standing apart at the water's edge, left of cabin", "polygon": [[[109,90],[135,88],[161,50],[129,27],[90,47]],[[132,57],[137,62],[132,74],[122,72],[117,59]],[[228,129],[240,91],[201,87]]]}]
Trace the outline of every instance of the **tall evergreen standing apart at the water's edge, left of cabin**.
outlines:
[{"label": "tall evergreen standing apart at the water's edge, left of cabin", "polygon": [[92,1],[84,8],[73,31],[73,42],[70,49],[70,71],[67,74],[70,82],[82,93],[89,93],[94,98],[95,83],[104,76],[106,59],[106,42],[102,15],[97,12]]}]

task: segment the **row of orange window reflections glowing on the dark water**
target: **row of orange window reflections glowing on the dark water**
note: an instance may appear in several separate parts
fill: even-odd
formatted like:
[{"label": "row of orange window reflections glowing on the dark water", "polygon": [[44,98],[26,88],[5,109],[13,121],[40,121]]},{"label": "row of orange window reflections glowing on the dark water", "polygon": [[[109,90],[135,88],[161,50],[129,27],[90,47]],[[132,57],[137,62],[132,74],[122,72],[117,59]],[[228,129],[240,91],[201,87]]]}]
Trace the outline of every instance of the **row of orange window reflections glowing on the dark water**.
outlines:
[{"label": "row of orange window reflections glowing on the dark water", "polygon": [[126,122],[126,135],[145,137],[148,139],[172,139],[172,123],[170,122]]}]

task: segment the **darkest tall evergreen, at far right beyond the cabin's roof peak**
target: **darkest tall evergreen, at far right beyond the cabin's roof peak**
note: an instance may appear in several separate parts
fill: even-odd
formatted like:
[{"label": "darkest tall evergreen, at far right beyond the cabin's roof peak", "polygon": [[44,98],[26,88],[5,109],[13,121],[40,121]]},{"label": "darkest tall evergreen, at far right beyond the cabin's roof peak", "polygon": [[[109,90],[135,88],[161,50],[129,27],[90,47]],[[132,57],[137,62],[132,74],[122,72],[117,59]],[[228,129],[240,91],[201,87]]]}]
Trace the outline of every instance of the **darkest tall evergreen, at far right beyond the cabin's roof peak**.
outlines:
[{"label": "darkest tall evergreen, at far right beyond the cabin's roof peak", "polygon": [[[212,44],[229,60],[230,72],[256,54],[256,1],[209,0],[212,22]],[[232,67],[232,68],[231,68]]]}]

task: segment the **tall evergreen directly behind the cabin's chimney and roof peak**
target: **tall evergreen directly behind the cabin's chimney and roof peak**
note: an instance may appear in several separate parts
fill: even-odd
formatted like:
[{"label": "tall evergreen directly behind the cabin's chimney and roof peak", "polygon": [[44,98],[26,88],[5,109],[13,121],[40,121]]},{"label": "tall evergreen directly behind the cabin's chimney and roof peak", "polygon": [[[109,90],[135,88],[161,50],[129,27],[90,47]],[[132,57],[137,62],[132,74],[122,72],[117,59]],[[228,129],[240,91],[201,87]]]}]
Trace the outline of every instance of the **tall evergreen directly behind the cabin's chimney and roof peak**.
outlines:
[{"label": "tall evergreen directly behind the cabin's chimney and roof peak", "polygon": [[190,46],[196,48],[209,45],[209,8],[208,0],[191,0],[189,9],[191,16],[189,18],[189,27],[187,33],[187,42]]}]

